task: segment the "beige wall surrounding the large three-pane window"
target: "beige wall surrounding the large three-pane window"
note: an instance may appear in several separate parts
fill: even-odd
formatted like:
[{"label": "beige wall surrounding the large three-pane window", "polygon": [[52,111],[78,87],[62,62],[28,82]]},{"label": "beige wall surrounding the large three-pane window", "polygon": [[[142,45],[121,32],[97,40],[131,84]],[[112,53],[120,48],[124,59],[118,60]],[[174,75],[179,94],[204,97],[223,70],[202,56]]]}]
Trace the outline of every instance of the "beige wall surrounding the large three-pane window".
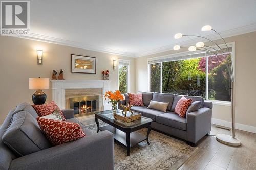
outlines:
[{"label": "beige wall surrounding the large three-pane window", "polygon": [[[256,32],[226,38],[227,42],[235,42],[236,71],[236,123],[256,127]],[[223,42],[218,40],[219,44]],[[184,51],[184,50],[183,50]],[[182,52],[182,51],[179,51]],[[139,57],[135,59],[136,91],[148,90],[147,58],[177,53],[170,50],[163,53]],[[213,118],[231,121],[231,107],[215,105]]]}]

